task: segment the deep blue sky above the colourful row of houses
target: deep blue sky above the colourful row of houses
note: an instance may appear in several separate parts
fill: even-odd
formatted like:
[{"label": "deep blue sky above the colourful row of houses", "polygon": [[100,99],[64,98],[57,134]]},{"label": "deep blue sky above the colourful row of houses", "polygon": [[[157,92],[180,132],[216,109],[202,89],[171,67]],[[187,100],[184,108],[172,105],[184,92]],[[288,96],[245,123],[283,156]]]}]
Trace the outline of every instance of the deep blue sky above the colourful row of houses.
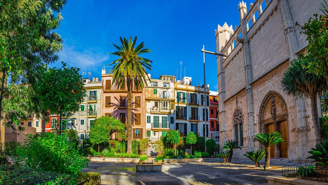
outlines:
[{"label": "deep blue sky above the colourful row of houses", "polygon": [[[68,0],[57,29],[64,40],[63,50],[51,66],[60,66],[63,60],[81,68],[81,75],[90,68],[92,76],[101,79],[102,67],[116,59],[108,55],[116,51],[110,43],[119,42],[119,36],[136,35],[137,44],[143,41],[152,51],[142,55],[153,61],[153,70],[147,71],[151,78],[162,73],[176,75],[178,69],[179,80],[182,61],[185,76],[193,78],[193,85],[198,79],[203,84],[203,44],[205,50],[216,52],[215,29],[224,22],[233,28],[239,25],[238,4],[239,0]],[[205,64],[206,83],[210,90],[217,90],[216,57],[205,54]]]}]

